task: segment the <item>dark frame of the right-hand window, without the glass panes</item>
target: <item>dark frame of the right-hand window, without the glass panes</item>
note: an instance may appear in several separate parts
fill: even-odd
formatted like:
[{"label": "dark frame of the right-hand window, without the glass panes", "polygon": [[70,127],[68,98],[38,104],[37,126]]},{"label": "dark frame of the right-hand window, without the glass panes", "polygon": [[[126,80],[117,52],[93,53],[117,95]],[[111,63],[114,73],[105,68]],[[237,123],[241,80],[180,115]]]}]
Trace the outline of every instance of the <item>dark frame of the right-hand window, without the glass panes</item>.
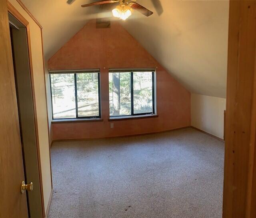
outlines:
[{"label": "dark frame of the right-hand window, without the glass panes", "polygon": [[[134,116],[144,116],[144,115],[156,115],[156,110],[155,110],[155,70],[142,70],[142,69],[137,69],[137,70],[109,70],[108,72],[108,75],[110,73],[115,73],[115,72],[120,72],[120,73],[123,73],[123,72],[126,72],[126,73],[130,73],[130,80],[131,80],[131,114],[129,115],[116,115],[116,116],[110,116],[109,114],[109,118],[118,118],[118,117],[134,117]],[[133,73],[134,72],[152,72],[152,112],[149,112],[149,113],[140,113],[140,114],[134,114],[134,87],[133,87]],[[109,85],[109,83],[108,83]],[[109,100],[108,100],[109,102]]]}]

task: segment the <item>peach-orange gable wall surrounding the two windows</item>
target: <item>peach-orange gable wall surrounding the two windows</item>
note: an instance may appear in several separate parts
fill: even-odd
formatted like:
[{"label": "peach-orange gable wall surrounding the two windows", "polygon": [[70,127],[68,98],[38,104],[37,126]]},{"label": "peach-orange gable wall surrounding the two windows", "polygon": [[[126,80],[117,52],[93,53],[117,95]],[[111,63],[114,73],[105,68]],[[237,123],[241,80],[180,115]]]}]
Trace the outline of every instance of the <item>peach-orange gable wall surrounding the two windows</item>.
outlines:
[{"label": "peach-orange gable wall surrounding the two windows", "polygon": [[[103,122],[52,123],[53,140],[103,138],[161,132],[190,126],[190,92],[120,25],[97,29],[92,20],[50,60],[49,70],[100,68]],[[157,68],[157,118],[108,121],[108,69]],[[114,123],[114,128],[110,128]]]}]

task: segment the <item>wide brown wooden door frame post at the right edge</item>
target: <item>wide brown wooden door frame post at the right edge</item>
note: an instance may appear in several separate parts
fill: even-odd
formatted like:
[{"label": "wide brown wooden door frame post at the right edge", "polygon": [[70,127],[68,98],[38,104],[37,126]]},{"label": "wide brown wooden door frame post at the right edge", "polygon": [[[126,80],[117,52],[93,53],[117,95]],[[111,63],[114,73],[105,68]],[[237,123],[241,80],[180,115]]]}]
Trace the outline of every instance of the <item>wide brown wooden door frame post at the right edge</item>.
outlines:
[{"label": "wide brown wooden door frame post at the right edge", "polygon": [[224,218],[256,217],[256,1],[230,0]]}]

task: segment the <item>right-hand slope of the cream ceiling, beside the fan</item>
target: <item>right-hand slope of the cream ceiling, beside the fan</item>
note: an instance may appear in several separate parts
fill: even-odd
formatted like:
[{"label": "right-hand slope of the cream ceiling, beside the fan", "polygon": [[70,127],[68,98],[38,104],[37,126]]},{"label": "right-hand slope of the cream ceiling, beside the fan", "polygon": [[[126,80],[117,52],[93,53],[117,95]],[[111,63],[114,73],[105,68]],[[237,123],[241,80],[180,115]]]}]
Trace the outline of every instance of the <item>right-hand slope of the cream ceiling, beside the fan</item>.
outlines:
[{"label": "right-hand slope of the cream ceiling, beside the fan", "polygon": [[[228,1],[162,0],[164,13],[124,27],[191,92],[226,97]],[[144,5],[150,7],[145,0]]]}]

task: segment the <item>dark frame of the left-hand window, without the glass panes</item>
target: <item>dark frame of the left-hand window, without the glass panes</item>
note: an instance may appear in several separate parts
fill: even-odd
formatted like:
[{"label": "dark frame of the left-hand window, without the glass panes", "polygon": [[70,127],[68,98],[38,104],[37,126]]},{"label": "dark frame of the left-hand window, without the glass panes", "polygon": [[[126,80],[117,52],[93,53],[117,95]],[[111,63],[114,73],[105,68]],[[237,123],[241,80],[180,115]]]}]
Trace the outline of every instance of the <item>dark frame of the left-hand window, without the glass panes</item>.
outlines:
[{"label": "dark frame of the left-hand window, without the glass panes", "polygon": [[[99,102],[99,116],[78,116],[78,97],[77,97],[77,76],[76,74],[80,73],[97,73],[98,74],[98,102]],[[52,120],[80,120],[80,119],[98,119],[101,118],[101,95],[100,95],[100,70],[80,70],[80,71],[52,71],[49,72],[49,78],[50,78],[50,91],[51,91],[51,103],[52,103],[52,80],[51,80],[51,74],[74,74],[74,89],[75,89],[75,104],[76,104],[76,117],[75,118],[54,118],[53,116],[53,104],[52,104]]]}]

